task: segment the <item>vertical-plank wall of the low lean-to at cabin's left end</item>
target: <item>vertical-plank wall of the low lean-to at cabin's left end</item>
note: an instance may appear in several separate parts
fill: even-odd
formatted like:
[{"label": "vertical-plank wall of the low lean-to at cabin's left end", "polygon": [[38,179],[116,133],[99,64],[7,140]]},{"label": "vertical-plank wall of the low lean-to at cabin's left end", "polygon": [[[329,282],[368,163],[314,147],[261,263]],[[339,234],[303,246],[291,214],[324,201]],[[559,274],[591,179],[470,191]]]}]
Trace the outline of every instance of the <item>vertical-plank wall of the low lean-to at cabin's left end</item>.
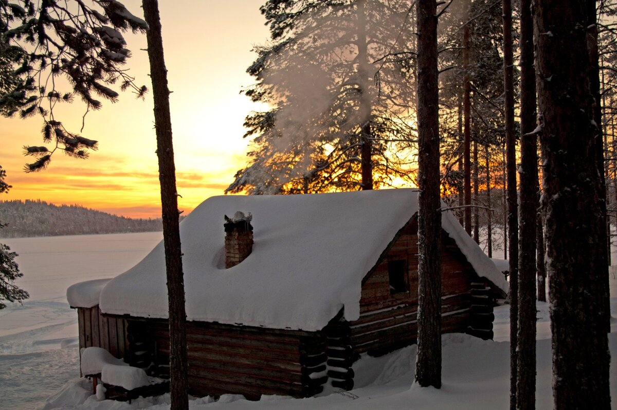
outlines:
[{"label": "vertical-plank wall of the low lean-to at cabin's left end", "polygon": [[103,316],[99,306],[78,307],[79,346],[106,349],[118,359],[125,358],[128,346],[126,319]]}]

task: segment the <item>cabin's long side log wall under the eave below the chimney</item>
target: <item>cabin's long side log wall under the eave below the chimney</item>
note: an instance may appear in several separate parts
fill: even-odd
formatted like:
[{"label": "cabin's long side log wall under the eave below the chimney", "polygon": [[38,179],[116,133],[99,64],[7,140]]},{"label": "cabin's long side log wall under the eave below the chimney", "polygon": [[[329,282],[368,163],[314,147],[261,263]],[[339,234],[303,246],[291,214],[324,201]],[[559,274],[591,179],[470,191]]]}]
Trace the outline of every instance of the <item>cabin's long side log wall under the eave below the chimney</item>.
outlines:
[{"label": "cabin's long side log wall under the eave below the chimney", "polygon": [[[133,320],[131,320],[133,322]],[[169,363],[166,320],[143,320],[152,360]],[[242,394],[307,397],[325,383],[320,332],[276,330],[206,322],[187,323],[189,391],[195,396]]]}]

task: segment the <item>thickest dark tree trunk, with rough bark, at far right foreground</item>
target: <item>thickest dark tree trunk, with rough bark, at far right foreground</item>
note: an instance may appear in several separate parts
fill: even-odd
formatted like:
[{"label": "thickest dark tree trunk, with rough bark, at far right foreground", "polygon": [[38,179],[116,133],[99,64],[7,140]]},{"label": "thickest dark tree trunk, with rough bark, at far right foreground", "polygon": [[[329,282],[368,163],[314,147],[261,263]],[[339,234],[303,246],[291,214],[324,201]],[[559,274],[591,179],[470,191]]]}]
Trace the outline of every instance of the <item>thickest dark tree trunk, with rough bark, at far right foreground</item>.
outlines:
[{"label": "thickest dark tree trunk, with rough bark, at far right foreground", "polygon": [[[543,127],[547,273],[556,409],[610,409],[606,246],[589,84],[586,2],[538,0],[536,83]],[[601,296],[601,297],[598,297]]]}]

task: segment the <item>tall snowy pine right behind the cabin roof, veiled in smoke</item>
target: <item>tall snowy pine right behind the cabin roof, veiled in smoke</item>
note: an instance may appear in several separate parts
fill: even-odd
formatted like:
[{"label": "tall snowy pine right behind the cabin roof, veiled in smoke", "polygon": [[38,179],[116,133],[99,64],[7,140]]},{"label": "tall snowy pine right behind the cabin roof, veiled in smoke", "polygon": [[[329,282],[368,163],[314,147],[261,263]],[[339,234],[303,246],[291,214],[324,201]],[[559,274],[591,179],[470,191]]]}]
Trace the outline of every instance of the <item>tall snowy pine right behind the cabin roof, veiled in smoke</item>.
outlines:
[{"label": "tall snowy pine right behind the cabin roof, veiled in smoke", "polygon": [[248,72],[257,84],[244,93],[273,109],[247,117],[251,160],[226,192],[344,191],[413,180],[408,7],[381,0],[262,6],[273,44],[255,49]]}]

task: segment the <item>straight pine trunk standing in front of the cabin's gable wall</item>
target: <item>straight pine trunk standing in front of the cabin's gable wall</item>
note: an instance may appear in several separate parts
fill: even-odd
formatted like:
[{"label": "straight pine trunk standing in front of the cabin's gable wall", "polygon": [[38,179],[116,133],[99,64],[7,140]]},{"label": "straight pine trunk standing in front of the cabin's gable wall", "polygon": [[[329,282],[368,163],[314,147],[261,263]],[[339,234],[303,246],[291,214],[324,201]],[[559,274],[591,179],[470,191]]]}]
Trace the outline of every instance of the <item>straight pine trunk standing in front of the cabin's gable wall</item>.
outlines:
[{"label": "straight pine trunk standing in front of the cabin's gable wall", "polygon": [[419,0],[418,15],[418,359],[415,379],[441,387],[441,203],[437,3]]}]

